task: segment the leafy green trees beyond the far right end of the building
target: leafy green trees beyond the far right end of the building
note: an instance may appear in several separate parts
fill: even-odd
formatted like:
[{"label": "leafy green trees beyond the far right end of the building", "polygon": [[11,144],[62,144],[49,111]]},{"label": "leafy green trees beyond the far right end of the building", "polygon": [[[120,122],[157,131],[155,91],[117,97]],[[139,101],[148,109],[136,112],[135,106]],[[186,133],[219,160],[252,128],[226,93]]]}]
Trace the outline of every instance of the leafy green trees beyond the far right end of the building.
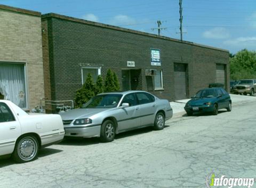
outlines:
[{"label": "leafy green trees beyond the far right end of the building", "polygon": [[233,80],[256,78],[256,52],[242,49],[230,57],[230,77]]}]

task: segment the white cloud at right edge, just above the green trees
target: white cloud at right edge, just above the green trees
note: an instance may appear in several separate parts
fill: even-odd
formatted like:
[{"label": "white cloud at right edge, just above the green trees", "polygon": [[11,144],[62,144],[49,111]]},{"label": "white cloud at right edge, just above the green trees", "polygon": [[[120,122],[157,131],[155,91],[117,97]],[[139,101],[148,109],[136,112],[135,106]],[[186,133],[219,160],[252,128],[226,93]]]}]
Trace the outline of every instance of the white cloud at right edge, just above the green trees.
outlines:
[{"label": "white cloud at right edge, just above the green trees", "polygon": [[256,48],[256,37],[238,37],[223,42],[224,45],[240,47],[240,49]]}]

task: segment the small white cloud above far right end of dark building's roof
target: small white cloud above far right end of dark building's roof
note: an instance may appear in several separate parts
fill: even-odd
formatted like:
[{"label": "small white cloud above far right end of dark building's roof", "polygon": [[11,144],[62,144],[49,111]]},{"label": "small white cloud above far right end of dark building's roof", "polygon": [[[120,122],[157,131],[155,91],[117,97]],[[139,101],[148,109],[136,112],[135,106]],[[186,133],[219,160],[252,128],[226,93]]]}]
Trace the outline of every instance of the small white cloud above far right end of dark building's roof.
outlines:
[{"label": "small white cloud above far right end of dark building's roof", "polygon": [[204,32],[203,37],[210,39],[227,39],[230,37],[230,34],[227,29],[219,27]]}]

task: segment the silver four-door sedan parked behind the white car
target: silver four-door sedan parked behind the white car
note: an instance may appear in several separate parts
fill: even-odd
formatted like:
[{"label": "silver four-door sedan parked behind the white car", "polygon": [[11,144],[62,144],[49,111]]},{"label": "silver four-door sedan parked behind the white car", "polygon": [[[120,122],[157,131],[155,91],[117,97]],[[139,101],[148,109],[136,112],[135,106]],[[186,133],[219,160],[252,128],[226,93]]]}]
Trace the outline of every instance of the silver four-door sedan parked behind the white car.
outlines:
[{"label": "silver four-door sedan parked behind the white car", "polygon": [[124,131],[148,126],[163,129],[165,120],[172,118],[172,108],[168,100],[145,91],[125,91],[98,94],[61,117],[65,136],[100,137],[111,142]]}]

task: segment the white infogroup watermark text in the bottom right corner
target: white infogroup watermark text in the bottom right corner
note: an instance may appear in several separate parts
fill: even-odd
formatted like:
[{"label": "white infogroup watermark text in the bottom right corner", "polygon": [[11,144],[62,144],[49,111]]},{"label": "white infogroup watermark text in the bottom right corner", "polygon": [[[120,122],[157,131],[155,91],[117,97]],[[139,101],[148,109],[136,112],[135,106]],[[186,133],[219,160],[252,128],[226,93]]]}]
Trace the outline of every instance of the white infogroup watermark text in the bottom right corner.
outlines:
[{"label": "white infogroup watermark text in the bottom right corner", "polygon": [[233,187],[248,187],[251,188],[254,184],[255,178],[227,178],[225,175],[219,178],[215,177],[214,173],[206,176],[206,187],[213,188],[214,186],[223,186],[228,188]]}]

